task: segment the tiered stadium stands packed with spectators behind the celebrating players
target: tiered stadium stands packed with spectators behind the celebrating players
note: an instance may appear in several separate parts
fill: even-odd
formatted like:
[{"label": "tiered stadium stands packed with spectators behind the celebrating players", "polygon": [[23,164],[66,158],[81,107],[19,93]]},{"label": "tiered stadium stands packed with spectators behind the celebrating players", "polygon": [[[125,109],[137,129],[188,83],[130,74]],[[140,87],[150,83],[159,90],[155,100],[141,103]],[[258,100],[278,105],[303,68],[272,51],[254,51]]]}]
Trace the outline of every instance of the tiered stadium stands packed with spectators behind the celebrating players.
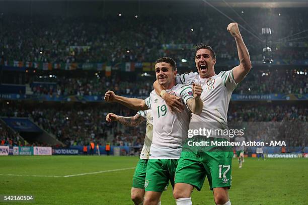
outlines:
[{"label": "tiered stadium stands packed with spectators behind the celebrating players", "polygon": [[[306,99],[308,92],[307,40],[304,34],[287,41],[283,39],[305,26],[307,13],[304,9],[296,9],[296,14],[292,9],[280,9],[283,15],[278,16],[275,9],[271,12],[257,10],[254,9],[252,15],[247,8],[245,19],[256,22],[252,27],[262,40],[262,28],[272,29],[269,43],[275,61],[271,66],[262,65],[264,42],[241,31],[254,68],[234,94],[268,94],[278,96],[279,100],[293,101],[261,105],[259,102],[267,99],[232,101],[228,121],[307,122],[307,108],[304,101],[299,101]],[[207,24],[194,21],[200,18]],[[238,17],[235,20],[241,22]],[[117,94],[146,97],[155,79],[151,62],[162,56],[174,58],[179,73],[195,71],[193,47],[200,41],[216,51],[216,73],[229,70],[238,62],[238,53],[235,43],[225,32],[228,23],[211,10],[168,18],[162,15],[142,18],[108,15],[95,18],[2,17],[1,26],[6,28],[0,33],[2,69],[8,73],[15,70],[19,77],[15,79],[14,73],[8,79],[2,78],[0,116],[29,118],[66,146],[87,145],[90,139],[99,144],[110,141],[112,145],[140,146],[145,126],[129,128],[105,122],[107,113],[133,116],[135,112],[106,105],[101,96],[112,88]],[[287,31],[281,29],[286,26]],[[128,68],[125,67],[127,63]],[[10,83],[14,86],[7,85]],[[91,100],[84,96],[92,96],[90,99],[96,102],[87,102]],[[70,100],[79,102],[65,102]],[[24,144],[19,140],[20,135],[5,124],[1,129],[5,144]],[[300,143],[294,141],[293,144]]]}]

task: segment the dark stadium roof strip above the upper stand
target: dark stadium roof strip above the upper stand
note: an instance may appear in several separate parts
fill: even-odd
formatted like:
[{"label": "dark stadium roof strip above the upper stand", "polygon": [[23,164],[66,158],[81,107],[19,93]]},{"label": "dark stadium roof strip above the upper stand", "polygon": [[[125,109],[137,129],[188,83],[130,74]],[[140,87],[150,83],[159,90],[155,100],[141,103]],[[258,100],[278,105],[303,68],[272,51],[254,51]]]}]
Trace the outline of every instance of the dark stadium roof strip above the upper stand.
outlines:
[{"label": "dark stadium roof strip above the upper stand", "polygon": [[1,1],[0,12],[5,14],[19,15],[51,15],[51,16],[104,16],[108,14],[174,14],[174,13],[196,13],[207,8],[233,7],[233,8],[307,8],[306,0],[100,0],[100,1]]}]

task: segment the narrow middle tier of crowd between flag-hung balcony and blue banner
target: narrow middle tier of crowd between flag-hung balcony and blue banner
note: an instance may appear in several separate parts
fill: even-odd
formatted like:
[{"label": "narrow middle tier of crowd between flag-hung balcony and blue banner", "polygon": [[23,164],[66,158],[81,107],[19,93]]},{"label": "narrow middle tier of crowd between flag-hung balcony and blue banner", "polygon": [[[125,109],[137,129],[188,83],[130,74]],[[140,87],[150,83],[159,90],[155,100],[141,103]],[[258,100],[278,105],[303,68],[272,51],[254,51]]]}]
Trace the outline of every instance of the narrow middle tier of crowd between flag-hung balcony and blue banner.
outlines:
[{"label": "narrow middle tier of crowd between flag-hung balcony and blue banner", "polygon": [[[279,70],[254,70],[247,75],[235,89],[237,94],[306,94],[308,93],[307,71],[297,74],[297,71],[286,69]],[[304,72],[306,74],[304,74]],[[140,75],[140,74],[139,74]],[[154,75],[154,74],[153,74]],[[147,96],[152,88],[152,77],[138,78],[138,83],[127,78],[120,77],[114,73],[112,77],[96,75],[88,77],[57,77],[47,78],[49,83],[42,82],[42,79],[32,77],[30,79],[31,88],[34,94],[50,95],[104,95],[112,87],[118,94]],[[32,83],[33,81],[37,83]],[[44,79],[46,81],[46,79]],[[53,84],[51,84],[53,83]]]}]

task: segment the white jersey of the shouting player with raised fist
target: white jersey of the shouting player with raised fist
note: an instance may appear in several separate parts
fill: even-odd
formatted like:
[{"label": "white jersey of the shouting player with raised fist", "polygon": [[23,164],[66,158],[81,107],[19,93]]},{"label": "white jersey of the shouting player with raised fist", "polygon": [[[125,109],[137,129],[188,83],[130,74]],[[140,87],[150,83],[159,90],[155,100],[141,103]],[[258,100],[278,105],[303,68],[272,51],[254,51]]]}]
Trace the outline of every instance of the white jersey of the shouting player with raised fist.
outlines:
[{"label": "white jersey of the shouting player with raised fist", "polygon": [[[198,83],[202,86],[201,99],[203,101],[203,109],[200,115],[192,114],[189,129],[199,129],[200,126],[212,130],[227,129],[227,112],[229,101],[233,90],[237,83],[234,80],[233,69],[221,71],[218,75],[209,78],[200,78],[197,73],[188,73],[177,75],[178,83],[185,83],[192,86],[192,83]],[[199,122],[199,123],[196,123]],[[215,135],[208,137],[229,139],[227,135]]]}]

